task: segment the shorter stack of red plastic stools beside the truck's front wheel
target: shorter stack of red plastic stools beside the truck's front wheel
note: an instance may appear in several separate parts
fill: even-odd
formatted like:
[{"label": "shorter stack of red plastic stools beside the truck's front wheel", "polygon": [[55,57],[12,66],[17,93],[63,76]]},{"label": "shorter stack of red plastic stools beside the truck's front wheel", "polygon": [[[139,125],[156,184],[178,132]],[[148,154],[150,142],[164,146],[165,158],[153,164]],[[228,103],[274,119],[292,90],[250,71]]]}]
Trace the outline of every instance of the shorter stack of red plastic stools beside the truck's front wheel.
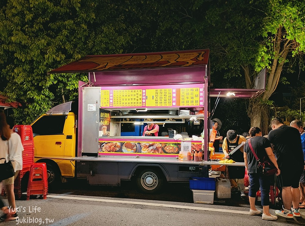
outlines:
[{"label": "shorter stack of red plastic stools beside the truck's front wheel", "polygon": [[45,163],[34,163],[30,168],[30,177],[27,184],[27,200],[31,195],[42,195],[43,199],[48,194],[48,176]]}]

